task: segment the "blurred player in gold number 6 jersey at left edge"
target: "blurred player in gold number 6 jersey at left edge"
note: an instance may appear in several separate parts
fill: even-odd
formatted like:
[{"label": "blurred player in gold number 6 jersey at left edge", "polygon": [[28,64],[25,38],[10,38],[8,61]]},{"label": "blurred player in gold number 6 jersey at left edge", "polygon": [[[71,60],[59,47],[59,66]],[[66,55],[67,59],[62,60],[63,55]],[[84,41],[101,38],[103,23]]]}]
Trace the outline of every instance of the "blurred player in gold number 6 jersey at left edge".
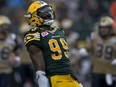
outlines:
[{"label": "blurred player in gold number 6 jersey at left edge", "polygon": [[16,35],[9,33],[10,19],[0,15],[0,87],[9,87],[14,66],[20,64]]}]

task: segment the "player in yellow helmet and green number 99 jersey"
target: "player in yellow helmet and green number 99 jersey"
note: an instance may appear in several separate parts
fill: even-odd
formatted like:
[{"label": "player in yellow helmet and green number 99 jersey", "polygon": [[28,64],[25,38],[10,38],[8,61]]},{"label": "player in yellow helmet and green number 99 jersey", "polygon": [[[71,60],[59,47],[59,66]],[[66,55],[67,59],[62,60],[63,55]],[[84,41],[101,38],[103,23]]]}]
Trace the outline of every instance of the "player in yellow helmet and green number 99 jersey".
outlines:
[{"label": "player in yellow helmet and green number 99 jersey", "polygon": [[39,87],[82,87],[69,61],[68,44],[62,28],[51,27],[55,20],[52,7],[43,1],[33,2],[25,17],[34,27],[25,34],[25,45]]}]

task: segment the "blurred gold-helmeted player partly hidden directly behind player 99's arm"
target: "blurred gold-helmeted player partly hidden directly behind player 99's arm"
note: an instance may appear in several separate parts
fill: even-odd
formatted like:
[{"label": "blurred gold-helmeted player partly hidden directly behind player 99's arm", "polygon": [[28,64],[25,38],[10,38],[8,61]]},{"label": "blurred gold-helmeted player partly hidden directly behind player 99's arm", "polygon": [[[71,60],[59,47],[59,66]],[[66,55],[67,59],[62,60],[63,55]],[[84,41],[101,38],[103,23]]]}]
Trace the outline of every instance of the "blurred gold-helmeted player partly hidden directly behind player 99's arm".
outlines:
[{"label": "blurred gold-helmeted player partly hidden directly behind player 99's arm", "polygon": [[21,75],[21,87],[34,87],[34,68],[32,61],[29,57],[27,49],[24,45],[24,34],[30,29],[30,26],[27,22],[23,22],[20,26],[20,43],[21,43],[21,66],[20,66],[20,75]]}]

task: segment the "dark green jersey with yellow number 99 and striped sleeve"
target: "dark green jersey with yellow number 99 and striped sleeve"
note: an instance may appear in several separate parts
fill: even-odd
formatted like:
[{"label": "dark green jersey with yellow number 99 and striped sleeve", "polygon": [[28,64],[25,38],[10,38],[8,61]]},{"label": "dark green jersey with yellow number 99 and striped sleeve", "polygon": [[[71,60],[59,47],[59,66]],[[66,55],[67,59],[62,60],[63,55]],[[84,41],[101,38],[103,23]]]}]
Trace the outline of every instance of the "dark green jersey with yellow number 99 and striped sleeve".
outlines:
[{"label": "dark green jersey with yellow number 99 and striped sleeve", "polygon": [[54,27],[52,31],[31,29],[25,35],[25,45],[27,48],[36,45],[42,50],[48,75],[75,74],[69,60],[65,34],[61,28]]}]

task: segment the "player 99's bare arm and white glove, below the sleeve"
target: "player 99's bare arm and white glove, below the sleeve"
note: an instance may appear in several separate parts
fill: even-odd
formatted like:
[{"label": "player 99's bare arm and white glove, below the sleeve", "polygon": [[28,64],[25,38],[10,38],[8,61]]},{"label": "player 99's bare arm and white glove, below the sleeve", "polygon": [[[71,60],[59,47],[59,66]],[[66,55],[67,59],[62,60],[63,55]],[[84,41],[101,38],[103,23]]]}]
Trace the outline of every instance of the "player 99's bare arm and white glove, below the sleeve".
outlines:
[{"label": "player 99's bare arm and white glove, below the sleeve", "polygon": [[49,83],[44,71],[45,63],[41,49],[31,45],[27,48],[27,50],[29,52],[29,55],[36,70],[36,79],[39,87],[48,87]]}]

